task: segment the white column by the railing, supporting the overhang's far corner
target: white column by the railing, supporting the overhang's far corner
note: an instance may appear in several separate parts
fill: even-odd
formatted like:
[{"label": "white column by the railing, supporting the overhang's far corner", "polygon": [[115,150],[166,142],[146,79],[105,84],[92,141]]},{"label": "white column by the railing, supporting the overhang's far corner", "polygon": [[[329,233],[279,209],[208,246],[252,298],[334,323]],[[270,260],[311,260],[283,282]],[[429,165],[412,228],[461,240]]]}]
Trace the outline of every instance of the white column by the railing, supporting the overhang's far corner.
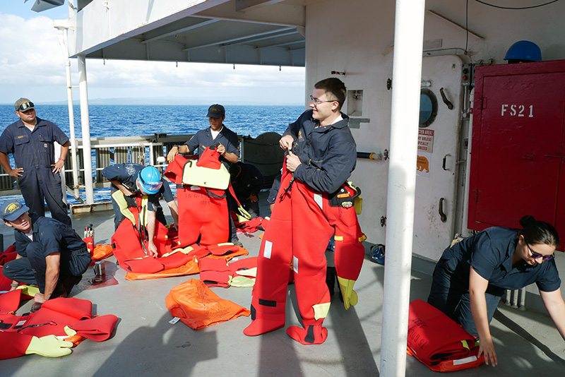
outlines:
[{"label": "white column by the railing, supporting the overhang's far corner", "polygon": [[86,61],[84,55],[77,55],[78,90],[81,93],[81,126],[83,131],[84,185],[86,204],[94,204],[93,159],[90,149],[90,118],[88,117],[88,87],[86,85]]}]

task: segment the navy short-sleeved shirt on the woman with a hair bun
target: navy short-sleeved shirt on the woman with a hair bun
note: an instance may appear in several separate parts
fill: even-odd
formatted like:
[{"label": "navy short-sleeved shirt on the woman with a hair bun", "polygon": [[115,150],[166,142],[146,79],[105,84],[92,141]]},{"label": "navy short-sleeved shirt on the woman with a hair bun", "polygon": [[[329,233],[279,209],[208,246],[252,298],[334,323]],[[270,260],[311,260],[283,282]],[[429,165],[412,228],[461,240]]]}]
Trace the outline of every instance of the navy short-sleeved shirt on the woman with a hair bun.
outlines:
[{"label": "navy short-sleeved shirt on the woman with a hair bun", "polygon": [[535,265],[520,261],[512,268],[517,243],[518,229],[492,227],[447,248],[441,260],[451,282],[467,290],[470,266],[489,281],[491,290],[521,289],[533,282],[542,292],[554,292],[561,287],[554,260]]}]

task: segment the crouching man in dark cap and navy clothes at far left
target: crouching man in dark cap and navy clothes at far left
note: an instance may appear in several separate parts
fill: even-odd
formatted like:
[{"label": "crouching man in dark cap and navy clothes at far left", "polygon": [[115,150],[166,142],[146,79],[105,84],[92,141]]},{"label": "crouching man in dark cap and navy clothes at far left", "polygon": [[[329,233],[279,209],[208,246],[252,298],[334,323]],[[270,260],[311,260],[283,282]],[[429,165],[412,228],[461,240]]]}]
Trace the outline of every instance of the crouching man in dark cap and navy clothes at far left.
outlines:
[{"label": "crouching man in dark cap and navy clothes at far left", "polygon": [[13,280],[11,290],[20,282],[39,287],[32,305],[32,311],[37,311],[48,299],[67,297],[92,259],[73,228],[50,217],[30,215],[29,210],[13,200],[0,205],[0,218],[14,229],[18,253],[2,273]]}]

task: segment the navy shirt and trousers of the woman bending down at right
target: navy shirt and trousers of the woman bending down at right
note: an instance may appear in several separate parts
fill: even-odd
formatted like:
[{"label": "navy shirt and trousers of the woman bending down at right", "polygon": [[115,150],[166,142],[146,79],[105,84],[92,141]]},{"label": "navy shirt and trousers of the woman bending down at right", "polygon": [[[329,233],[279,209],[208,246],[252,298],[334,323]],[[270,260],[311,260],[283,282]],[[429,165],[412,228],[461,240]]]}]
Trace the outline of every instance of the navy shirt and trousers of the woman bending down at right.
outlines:
[{"label": "navy shirt and trousers of the woman bending down at right", "polygon": [[485,293],[489,323],[505,289],[521,289],[534,282],[542,292],[554,292],[561,287],[553,259],[535,265],[522,261],[512,268],[518,232],[518,229],[492,227],[445,249],[434,269],[429,304],[477,337],[469,296],[471,266],[489,281]]}]

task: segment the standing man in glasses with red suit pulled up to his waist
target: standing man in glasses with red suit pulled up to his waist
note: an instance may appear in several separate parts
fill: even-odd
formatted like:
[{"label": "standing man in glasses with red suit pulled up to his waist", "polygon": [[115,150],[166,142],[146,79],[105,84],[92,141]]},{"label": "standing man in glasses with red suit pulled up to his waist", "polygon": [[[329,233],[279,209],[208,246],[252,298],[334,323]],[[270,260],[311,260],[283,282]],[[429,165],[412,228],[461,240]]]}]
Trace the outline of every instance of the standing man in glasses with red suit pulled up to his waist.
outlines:
[{"label": "standing man in glasses with red suit pulled up to his waist", "polygon": [[335,270],[345,309],[357,304],[353,284],[364,258],[353,206],[357,191],[347,184],[357,160],[355,140],[340,112],[345,85],[326,78],[314,85],[311,109],[290,124],[280,147],[288,151],[278,198],[263,235],[251,301],[253,336],[285,325],[287,283],[292,265],[298,308],[304,328],[290,326],[287,335],[304,345],[320,344],[330,308],[326,285],[328,241],[335,234]]}]

